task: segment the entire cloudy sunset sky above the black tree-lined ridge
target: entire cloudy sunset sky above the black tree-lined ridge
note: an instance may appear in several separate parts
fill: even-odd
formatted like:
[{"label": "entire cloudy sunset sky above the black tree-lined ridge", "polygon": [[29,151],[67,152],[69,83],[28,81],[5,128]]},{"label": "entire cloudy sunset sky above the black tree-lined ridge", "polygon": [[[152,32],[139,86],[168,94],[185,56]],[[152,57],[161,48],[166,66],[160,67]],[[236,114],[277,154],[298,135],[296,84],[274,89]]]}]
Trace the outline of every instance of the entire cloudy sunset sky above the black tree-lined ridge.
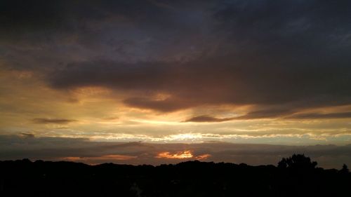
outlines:
[{"label": "entire cloudy sunset sky above the black tree-lined ridge", "polygon": [[0,1],[0,160],[351,165],[350,10]]}]

